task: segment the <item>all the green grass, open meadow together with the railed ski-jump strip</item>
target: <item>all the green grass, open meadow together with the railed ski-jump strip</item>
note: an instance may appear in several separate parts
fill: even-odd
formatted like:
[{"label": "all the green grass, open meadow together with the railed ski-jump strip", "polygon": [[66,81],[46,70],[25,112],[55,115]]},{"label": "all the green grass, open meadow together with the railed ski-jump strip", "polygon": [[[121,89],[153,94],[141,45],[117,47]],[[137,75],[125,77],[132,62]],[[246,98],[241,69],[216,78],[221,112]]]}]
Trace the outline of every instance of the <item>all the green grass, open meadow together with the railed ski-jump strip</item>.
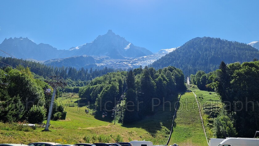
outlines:
[{"label": "all the green grass, open meadow together with the railed ski-jump strip", "polygon": [[[195,92],[201,104],[204,104],[205,101],[220,101],[218,96],[213,92],[200,91],[195,86],[191,87],[190,90]],[[68,106],[71,96],[72,101],[74,101],[74,107]],[[203,97],[203,99],[198,97]],[[146,140],[152,141],[154,145],[164,145],[167,143],[168,136],[170,135],[175,112],[174,106],[178,98],[179,94],[166,97],[164,101],[169,101],[171,106],[168,102],[163,106],[163,101],[161,101],[160,106],[154,106],[154,115],[146,117],[146,119],[137,123],[123,125],[116,121],[114,125],[114,121],[107,122],[107,120],[105,121],[102,118],[100,118],[101,120],[96,119],[91,109],[89,110],[89,114],[86,114],[86,106],[77,106],[79,100],[78,94],[64,93],[62,97],[55,101],[59,105],[62,104],[64,106],[67,112],[66,119],[58,121],[51,120],[49,127],[51,131],[43,132],[42,130],[44,128],[42,127],[31,128],[21,125],[23,123],[0,122],[0,143],[29,144],[31,142],[47,141],[61,144],[75,144]],[[188,103],[186,106],[186,101],[191,103]],[[182,104],[179,105],[169,144],[207,145],[194,94],[183,93],[180,102]],[[205,105],[207,104],[205,103]],[[205,114],[205,112],[208,112],[208,106],[205,108],[201,106],[201,110],[208,138],[213,138],[211,117]],[[98,115],[96,116],[98,117]],[[46,121],[43,123],[46,123]]]}]

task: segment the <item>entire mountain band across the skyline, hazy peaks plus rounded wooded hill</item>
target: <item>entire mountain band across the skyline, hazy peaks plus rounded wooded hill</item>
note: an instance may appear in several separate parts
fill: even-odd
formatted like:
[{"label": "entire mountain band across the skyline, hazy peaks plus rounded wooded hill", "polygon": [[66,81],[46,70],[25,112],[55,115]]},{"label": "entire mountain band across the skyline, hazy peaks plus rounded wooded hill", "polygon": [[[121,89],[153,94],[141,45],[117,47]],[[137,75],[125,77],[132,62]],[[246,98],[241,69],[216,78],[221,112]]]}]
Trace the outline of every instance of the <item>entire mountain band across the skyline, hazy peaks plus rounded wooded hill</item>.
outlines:
[{"label": "entire mountain band across the skyline, hazy peaks plus rounded wooded hill", "polygon": [[[259,41],[244,44],[219,38],[198,37],[181,47],[152,53],[109,30],[92,42],[71,47],[69,50],[58,50],[49,44],[35,44],[22,37],[5,39],[0,44],[0,49],[16,58],[38,60],[57,67],[136,68],[154,62],[151,66],[156,69],[172,65],[183,69],[186,74],[193,74],[200,69],[206,72],[215,70],[222,60],[233,63],[258,59],[258,46]],[[0,56],[10,57],[3,52],[0,52]]]}]

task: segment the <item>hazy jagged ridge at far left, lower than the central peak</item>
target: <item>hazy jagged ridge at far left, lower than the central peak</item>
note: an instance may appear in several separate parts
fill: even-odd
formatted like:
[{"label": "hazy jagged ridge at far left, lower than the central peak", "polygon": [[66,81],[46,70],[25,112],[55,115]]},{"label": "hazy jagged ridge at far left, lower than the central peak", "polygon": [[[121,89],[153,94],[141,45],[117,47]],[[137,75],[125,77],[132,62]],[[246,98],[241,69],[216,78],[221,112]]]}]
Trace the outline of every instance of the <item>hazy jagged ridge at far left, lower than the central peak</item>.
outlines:
[{"label": "hazy jagged ridge at far left, lower than the central peak", "polygon": [[[2,44],[0,44],[0,49],[16,58],[23,59],[48,60],[69,56],[68,50],[57,50],[49,44],[35,44],[28,38],[22,37],[5,39]],[[10,57],[3,52],[1,52],[0,55]]]}]

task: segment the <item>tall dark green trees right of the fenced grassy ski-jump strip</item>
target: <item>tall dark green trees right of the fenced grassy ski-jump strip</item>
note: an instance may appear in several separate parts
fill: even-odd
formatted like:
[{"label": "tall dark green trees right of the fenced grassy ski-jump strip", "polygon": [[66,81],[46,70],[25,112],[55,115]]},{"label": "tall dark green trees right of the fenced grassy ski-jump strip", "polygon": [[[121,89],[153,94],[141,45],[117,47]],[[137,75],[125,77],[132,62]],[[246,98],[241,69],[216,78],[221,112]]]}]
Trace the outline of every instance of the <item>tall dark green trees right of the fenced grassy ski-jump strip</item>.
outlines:
[{"label": "tall dark green trees right of the fenced grassy ski-jump strip", "polygon": [[215,90],[224,103],[220,115],[214,119],[217,138],[253,137],[259,128],[259,61],[235,62],[205,73],[191,75],[191,82],[200,90]]}]

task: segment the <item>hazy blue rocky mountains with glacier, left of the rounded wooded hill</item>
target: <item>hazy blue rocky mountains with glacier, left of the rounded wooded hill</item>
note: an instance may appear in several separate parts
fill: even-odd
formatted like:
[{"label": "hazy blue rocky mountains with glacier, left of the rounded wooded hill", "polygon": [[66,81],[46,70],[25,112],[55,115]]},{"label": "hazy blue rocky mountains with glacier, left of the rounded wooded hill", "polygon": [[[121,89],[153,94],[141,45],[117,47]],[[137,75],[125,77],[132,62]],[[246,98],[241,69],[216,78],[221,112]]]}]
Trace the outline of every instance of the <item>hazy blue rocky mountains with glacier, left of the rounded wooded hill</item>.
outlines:
[{"label": "hazy blue rocky mountains with glacier, left of the rounded wooded hill", "polygon": [[[91,43],[71,47],[69,50],[58,50],[49,44],[36,44],[28,38],[14,37],[5,39],[0,49],[16,58],[35,60],[47,65],[112,68],[132,68],[151,64],[175,48],[162,49],[152,53],[146,48],[135,46],[109,30],[105,35],[99,35]],[[1,56],[10,57],[0,52]]]}]

